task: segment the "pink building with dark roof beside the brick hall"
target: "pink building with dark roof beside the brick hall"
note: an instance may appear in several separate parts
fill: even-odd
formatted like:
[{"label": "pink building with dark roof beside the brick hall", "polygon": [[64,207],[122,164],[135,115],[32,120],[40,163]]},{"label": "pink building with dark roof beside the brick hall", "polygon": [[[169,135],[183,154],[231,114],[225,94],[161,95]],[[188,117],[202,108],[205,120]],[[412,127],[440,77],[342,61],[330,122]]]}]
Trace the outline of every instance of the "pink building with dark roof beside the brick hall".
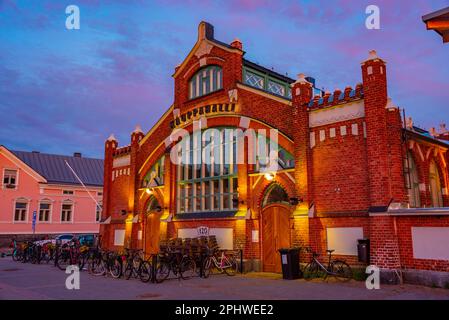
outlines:
[{"label": "pink building with dark roof beside the brick hall", "polygon": [[102,159],[12,151],[0,145],[0,175],[0,245],[13,235],[98,233]]}]

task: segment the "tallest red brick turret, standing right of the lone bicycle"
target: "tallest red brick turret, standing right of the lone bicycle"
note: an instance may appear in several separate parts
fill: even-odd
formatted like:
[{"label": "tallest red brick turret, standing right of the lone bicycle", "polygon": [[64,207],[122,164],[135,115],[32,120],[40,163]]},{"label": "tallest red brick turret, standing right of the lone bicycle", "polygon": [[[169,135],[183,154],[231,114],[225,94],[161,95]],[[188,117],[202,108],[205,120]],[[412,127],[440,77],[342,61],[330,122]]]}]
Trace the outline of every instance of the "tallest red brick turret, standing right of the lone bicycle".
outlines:
[{"label": "tallest red brick turret, standing right of the lone bicycle", "polygon": [[[403,179],[399,176],[402,173],[401,126],[399,110],[387,104],[386,63],[377,56],[374,50],[370,51],[368,59],[362,63],[362,77],[365,96],[369,197],[370,205],[374,208],[387,206],[392,199],[393,201],[402,200],[394,199],[397,193],[394,192],[394,186],[404,185]],[[396,167],[392,166],[394,159],[396,159],[394,163]],[[395,179],[399,181],[394,181]],[[377,265],[382,270],[401,267],[394,219],[391,216],[380,215],[373,216],[370,222],[371,256],[373,257],[371,264]],[[382,273],[382,280],[389,282],[397,278],[394,273],[386,272]]]}]

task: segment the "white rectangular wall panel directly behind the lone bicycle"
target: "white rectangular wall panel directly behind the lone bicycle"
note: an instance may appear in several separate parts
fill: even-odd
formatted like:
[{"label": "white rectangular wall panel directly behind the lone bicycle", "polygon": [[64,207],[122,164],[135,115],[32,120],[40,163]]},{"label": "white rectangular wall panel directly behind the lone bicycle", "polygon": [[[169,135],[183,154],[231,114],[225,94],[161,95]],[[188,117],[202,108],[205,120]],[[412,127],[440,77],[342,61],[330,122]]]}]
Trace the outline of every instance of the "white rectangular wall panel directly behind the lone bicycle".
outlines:
[{"label": "white rectangular wall panel directly behind the lone bicycle", "polygon": [[357,255],[357,240],[363,239],[363,228],[327,228],[327,249],[333,254]]}]

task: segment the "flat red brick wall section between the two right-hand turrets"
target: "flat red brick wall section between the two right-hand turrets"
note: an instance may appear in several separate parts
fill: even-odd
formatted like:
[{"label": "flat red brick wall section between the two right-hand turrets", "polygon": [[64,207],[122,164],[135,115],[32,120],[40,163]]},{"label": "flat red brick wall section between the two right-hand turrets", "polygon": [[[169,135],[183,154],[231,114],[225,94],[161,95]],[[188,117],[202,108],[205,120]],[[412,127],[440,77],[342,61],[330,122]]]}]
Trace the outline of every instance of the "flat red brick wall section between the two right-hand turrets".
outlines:
[{"label": "flat red brick wall section between the two right-hand turrets", "polygon": [[[358,126],[357,134],[353,134],[352,125]],[[318,213],[366,211],[370,206],[363,126],[364,119],[360,118],[310,130],[316,140],[311,153],[313,198]],[[345,135],[342,127],[346,128]],[[332,128],[334,138],[330,136]]]}]

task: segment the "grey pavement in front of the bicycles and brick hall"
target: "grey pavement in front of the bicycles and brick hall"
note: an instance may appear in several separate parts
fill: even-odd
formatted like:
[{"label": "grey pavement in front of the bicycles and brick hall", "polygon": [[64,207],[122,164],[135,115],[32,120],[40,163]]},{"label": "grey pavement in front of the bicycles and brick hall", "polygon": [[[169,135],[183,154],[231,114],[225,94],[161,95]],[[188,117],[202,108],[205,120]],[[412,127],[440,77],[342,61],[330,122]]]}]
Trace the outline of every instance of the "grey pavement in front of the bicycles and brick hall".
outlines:
[{"label": "grey pavement in front of the bicycles and brick hall", "polygon": [[0,258],[0,299],[111,300],[449,300],[449,290],[413,285],[382,285],[368,290],[364,282],[283,280],[279,274],[248,273],[208,279],[167,280],[161,284],[80,273],[80,289],[65,287],[69,275],[53,265],[33,265]]}]

